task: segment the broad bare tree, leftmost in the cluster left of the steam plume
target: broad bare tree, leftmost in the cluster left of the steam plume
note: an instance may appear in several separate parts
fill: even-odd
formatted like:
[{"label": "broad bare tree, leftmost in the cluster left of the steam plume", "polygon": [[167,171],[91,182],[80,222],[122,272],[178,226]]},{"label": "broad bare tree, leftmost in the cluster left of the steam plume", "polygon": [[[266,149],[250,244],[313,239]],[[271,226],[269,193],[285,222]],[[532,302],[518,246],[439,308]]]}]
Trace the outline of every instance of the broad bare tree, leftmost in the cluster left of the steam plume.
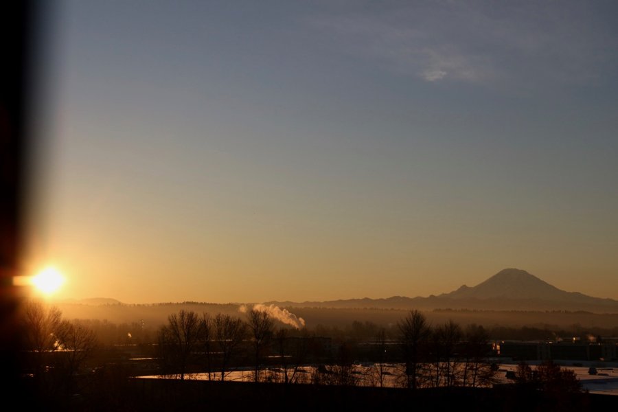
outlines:
[{"label": "broad bare tree, leftmost in the cluster left of the steam plume", "polygon": [[170,314],[168,324],[159,330],[159,350],[163,369],[185,378],[190,357],[203,333],[203,323],[192,310]]}]

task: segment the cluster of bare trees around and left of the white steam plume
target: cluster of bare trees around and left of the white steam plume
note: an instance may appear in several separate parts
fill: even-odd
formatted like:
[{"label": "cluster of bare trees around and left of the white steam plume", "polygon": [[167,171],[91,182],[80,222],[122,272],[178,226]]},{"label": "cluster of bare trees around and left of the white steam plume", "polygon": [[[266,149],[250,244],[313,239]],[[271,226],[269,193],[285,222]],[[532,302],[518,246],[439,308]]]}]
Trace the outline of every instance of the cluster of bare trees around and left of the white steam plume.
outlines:
[{"label": "cluster of bare trees around and left of the white steam plume", "polygon": [[161,326],[157,354],[162,376],[185,378],[187,371],[205,371],[209,380],[225,380],[232,365],[253,365],[253,380],[265,380],[264,361],[272,358],[283,371],[284,382],[295,382],[299,367],[317,340],[306,330],[275,328],[268,312],[251,309],[246,319],[218,313],[201,315],[190,310],[170,314]]}]

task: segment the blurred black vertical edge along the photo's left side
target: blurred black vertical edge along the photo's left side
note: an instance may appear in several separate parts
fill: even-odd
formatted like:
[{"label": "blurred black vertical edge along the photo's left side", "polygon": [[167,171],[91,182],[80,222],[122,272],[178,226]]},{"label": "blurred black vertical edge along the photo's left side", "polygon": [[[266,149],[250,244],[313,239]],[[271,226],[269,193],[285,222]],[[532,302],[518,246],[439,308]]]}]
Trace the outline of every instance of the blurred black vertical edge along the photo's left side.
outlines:
[{"label": "blurred black vertical edge along the photo's left side", "polygon": [[[0,12],[2,64],[0,65],[0,373],[5,404],[10,398],[36,402],[26,393],[19,379],[21,336],[17,322],[19,287],[13,277],[19,275],[23,250],[25,182],[27,153],[32,142],[28,135],[29,96],[32,87],[32,56],[36,40],[34,1],[8,1]],[[30,394],[32,395],[32,394]]]}]

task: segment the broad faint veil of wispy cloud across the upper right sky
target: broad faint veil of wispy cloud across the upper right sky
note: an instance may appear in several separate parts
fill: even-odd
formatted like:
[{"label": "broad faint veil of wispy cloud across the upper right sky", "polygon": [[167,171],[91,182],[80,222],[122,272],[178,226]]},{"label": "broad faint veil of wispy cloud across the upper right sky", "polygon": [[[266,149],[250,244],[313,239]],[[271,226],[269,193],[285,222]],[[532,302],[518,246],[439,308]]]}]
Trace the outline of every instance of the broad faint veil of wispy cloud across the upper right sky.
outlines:
[{"label": "broad faint veil of wispy cloud across the upper right sky", "polygon": [[396,3],[312,24],[345,52],[426,82],[577,83],[617,66],[615,30],[586,2]]}]

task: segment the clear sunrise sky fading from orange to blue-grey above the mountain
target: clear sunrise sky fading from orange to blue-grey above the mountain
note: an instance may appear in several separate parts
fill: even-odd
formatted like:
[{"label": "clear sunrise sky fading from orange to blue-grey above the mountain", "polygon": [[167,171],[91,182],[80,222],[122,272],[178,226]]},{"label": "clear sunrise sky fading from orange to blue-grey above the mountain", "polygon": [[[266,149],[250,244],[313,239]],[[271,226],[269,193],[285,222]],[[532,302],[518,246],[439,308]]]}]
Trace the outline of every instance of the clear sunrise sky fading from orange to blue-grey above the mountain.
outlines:
[{"label": "clear sunrise sky fading from orange to blue-grey above the mountain", "polygon": [[613,1],[45,10],[28,271],[126,303],[618,299]]}]

